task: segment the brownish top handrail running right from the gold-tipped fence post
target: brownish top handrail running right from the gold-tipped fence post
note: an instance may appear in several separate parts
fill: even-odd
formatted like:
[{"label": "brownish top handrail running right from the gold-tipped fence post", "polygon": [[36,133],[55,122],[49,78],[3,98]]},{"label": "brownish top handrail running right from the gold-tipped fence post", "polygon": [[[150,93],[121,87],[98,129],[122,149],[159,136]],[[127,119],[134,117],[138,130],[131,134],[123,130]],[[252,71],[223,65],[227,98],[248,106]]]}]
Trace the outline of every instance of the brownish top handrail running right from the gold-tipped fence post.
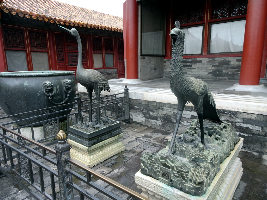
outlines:
[{"label": "brownish top handrail running right from the gold-tipped fence post", "polygon": [[117,183],[116,181],[113,181],[112,179],[96,172],[95,170],[92,170],[89,167],[83,166],[82,164],[75,162],[75,160],[72,158],[66,157],[65,160],[68,161],[69,163],[79,167],[80,169],[82,169],[84,171],[88,171],[93,176],[101,179],[102,181],[108,183],[109,185],[112,185],[113,187],[119,189],[120,191],[123,191],[124,193],[126,193],[132,197],[135,197],[137,200],[150,200],[150,199],[140,195],[139,193],[129,189],[128,187],[125,187],[125,186],[121,185],[120,183]]}]

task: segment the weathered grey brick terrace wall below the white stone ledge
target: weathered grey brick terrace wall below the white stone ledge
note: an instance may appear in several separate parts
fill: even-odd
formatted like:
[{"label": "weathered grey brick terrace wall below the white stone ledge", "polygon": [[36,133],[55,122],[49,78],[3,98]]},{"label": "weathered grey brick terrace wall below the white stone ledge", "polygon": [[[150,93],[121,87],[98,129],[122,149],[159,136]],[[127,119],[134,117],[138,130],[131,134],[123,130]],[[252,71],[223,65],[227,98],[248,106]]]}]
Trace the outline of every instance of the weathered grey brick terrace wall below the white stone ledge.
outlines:
[{"label": "weathered grey brick terrace wall below the white stone ledge", "polygon": [[[177,105],[130,99],[130,117],[133,123],[173,132]],[[244,138],[243,149],[267,154],[267,115],[217,110],[221,119],[231,123],[238,135]],[[178,133],[184,133],[197,118],[195,108],[185,106]]]}]

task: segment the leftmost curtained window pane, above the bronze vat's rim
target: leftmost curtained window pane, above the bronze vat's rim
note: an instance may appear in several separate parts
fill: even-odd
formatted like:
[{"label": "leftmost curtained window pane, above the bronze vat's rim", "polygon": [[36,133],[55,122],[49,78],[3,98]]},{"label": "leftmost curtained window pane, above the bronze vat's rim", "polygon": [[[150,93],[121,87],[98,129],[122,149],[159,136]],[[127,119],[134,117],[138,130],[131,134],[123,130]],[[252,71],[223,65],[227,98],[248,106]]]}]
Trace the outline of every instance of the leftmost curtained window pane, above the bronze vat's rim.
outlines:
[{"label": "leftmost curtained window pane, above the bronze vat's rim", "polygon": [[8,71],[28,71],[26,51],[6,50]]}]

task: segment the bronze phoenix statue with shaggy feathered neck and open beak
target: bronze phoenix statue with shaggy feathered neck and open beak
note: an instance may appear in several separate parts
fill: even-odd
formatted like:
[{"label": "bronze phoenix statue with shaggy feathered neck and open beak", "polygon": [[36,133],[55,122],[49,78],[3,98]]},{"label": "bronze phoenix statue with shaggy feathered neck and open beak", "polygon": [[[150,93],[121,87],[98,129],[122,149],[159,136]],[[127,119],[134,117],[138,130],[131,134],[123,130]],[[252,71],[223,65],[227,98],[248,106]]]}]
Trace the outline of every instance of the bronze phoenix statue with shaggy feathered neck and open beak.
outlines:
[{"label": "bronze phoenix statue with shaggy feathered neck and open beak", "polygon": [[171,91],[177,97],[177,114],[174,134],[170,143],[168,154],[171,154],[175,137],[182,118],[184,106],[192,102],[198,115],[201,143],[204,143],[203,119],[222,122],[216,111],[215,102],[207,83],[201,79],[186,77],[183,71],[184,32],[180,30],[180,22],[175,22],[175,28],[171,30],[172,39],[172,64],[170,72]]}]

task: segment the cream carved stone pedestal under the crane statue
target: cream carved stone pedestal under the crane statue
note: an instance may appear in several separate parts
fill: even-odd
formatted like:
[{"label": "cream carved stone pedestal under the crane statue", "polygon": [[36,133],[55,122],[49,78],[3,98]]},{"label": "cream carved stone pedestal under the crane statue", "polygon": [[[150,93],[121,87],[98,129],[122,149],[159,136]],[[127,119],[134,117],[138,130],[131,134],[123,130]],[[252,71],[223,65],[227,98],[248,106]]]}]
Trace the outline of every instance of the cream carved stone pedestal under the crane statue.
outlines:
[{"label": "cream carved stone pedestal under the crane statue", "polygon": [[125,150],[125,146],[120,142],[120,138],[122,137],[123,133],[120,133],[91,147],[81,145],[80,143],[68,139],[68,143],[72,145],[70,157],[85,166],[93,167]]}]

